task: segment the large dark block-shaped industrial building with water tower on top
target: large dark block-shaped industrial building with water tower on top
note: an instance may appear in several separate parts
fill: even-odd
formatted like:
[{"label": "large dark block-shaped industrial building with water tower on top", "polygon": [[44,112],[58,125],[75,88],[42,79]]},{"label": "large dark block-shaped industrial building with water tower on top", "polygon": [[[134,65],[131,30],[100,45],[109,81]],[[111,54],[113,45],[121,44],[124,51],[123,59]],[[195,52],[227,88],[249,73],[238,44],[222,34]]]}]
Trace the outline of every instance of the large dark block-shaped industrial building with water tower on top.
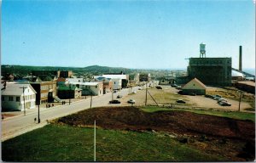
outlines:
[{"label": "large dark block-shaped industrial building with water tower on top", "polygon": [[231,85],[231,58],[207,58],[206,44],[200,45],[200,58],[190,58],[188,76],[176,78],[178,84],[184,84],[197,78],[205,85],[230,86]]}]

